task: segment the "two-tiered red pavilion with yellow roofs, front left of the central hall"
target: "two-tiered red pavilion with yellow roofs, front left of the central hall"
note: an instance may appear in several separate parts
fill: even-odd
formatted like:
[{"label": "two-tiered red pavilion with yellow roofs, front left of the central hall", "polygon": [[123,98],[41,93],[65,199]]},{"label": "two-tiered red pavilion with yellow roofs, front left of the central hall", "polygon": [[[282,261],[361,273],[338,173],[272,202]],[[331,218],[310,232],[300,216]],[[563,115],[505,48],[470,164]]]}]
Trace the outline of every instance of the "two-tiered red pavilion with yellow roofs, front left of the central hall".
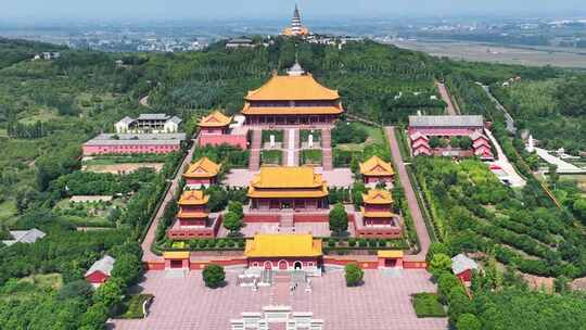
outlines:
[{"label": "two-tiered red pavilion with yellow roofs, front left of the central hall", "polygon": [[202,190],[186,190],[181,194],[175,225],[167,231],[173,240],[214,238],[221,220],[207,210],[209,196]]}]

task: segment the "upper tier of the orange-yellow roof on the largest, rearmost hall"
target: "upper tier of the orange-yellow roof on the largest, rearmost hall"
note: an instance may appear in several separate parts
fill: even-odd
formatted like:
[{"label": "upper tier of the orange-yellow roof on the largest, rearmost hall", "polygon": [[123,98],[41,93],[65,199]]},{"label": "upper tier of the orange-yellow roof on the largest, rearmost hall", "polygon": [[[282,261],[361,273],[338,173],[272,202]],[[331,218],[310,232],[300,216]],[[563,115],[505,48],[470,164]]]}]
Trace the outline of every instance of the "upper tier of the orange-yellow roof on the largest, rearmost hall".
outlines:
[{"label": "upper tier of the orange-yellow roof on the largest, rearmost hall", "polygon": [[335,90],[323,87],[311,75],[273,75],[263,87],[252,90],[246,101],[313,101],[337,100]]}]

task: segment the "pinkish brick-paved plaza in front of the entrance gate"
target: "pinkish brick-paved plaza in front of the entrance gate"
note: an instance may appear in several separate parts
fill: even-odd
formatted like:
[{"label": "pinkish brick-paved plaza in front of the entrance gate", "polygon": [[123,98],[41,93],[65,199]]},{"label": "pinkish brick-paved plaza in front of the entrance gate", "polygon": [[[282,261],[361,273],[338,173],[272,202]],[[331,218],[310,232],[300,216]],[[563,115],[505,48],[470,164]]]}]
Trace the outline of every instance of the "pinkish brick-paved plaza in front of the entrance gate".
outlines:
[{"label": "pinkish brick-paved plaza in front of the entrance gate", "polygon": [[253,292],[235,287],[235,271],[228,271],[227,278],[226,288],[209,290],[204,288],[200,271],[191,271],[187,278],[166,278],[164,271],[148,272],[141,285],[144,292],[155,295],[149,317],[114,320],[110,329],[229,330],[231,318],[239,318],[242,312],[260,312],[269,304],[290,304],[295,312],[313,312],[326,321],[324,329],[331,330],[447,329],[445,318],[418,319],[411,306],[412,293],[435,290],[425,270],[394,275],[367,270],[365,285],[360,288],[346,288],[343,271],[331,271],[313,278],[313,293],[300,288],[293,295],[284,295],[284,301],[272,288]]}]

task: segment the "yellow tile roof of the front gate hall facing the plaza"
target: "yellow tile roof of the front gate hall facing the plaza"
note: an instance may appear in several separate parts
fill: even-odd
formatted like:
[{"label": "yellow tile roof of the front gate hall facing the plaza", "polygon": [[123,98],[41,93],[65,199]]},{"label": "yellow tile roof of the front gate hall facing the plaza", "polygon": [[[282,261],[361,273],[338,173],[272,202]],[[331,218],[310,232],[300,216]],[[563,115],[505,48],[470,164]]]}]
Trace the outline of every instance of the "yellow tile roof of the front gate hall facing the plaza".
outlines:
[{"label": "yellow tile roof of the front gate hall facing the plaza", "polygon": [[321,240],[311,234],[256,234],[246,241],[246,257],[321,256]]}]

